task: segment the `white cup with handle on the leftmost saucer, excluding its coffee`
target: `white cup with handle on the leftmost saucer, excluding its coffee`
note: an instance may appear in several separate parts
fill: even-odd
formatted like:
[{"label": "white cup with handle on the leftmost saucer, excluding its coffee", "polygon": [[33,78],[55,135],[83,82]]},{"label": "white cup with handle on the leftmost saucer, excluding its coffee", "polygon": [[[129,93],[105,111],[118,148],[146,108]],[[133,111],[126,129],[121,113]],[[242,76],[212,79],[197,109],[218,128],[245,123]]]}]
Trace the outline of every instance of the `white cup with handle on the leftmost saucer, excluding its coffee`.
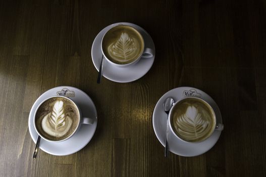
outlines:
[{"label": "white cup with handle on the leftmost saucer, excluding its coffee", "polygon": [[[78,110],[78,125],[76,126],[76,129],[72,132],[72,134],[70,136],[68,136],[67,138],[63,139],[63,140],[49,140],[47,138],[45,138],[44,136],[41,135],[41,133],[38,131],[37,127],[36,127],[36,121],[35,121],[35,118],[36,118],[36,113],[37,113],[37,110],[39,109],[39,107],[47,100],[49,99],[52,99],[52,98],[58,98],[58,97],[61,97],[61,98],[64,98],[64,99],[67,99],[69,100]],[[64,97],[64,96],[52,96],[52,97],[49,97],[49,98],[46,98],[45,100],[43,100],[37,107],[37,109],[35,110],[34,112],[34,128],[37,132],[37,134],[45,141],[48,141],[48,142],[63,142],[63,141],[66,141],[68,140],[69,138],[71,138],[80,128],[81,124],[93,124],[94,122],[94,119],[93,118],[88,118],[88,117],[83,117],[82,116],[82,111],[81,109],[79,108],[79,106],[73,101],[71,100],[70,98],[68,97]]]}]

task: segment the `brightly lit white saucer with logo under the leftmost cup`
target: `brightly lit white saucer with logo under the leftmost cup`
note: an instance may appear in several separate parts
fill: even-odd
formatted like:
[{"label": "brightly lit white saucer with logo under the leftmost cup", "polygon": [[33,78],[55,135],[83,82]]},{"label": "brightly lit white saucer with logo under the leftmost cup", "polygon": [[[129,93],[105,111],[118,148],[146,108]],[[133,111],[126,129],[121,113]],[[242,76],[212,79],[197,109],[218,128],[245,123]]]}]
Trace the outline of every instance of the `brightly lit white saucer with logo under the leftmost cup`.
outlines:
[{"label": "brightly lit white saucer with logo under the leftmost cup", "polygon": [[96,112],[94,103],[92,102],[92,100],[89,98],[89,96],[86,93],[84,93],[83,91],[75,87],[71,87],[71,86],[55,87],[43,93],[35,101],[29,114],[30,136],[32,140],[34,141],[34,143],[36,143],[38,134],[34,128],[33,119],[34,119],[34,111],[37,108],[38,104],[41,103],[45,98],[56,96],[56,95],[69,97],[75,103],[79,105],[80,109],[82,110],[83,116],[94,118],[95,121],[91,125],[81,124],[81,127],[76,132],[76,134],[66,141],[59,142],[59,143],[52,143],[52,142],[47,142],[41,139],[39,148],[43,150],[44,152],[52,154],[52,155],[73,154],[81,150],[83,147],[85,147],[89,143],[89,141],[94,135],[94,132],[97,126],[97,112]]}]

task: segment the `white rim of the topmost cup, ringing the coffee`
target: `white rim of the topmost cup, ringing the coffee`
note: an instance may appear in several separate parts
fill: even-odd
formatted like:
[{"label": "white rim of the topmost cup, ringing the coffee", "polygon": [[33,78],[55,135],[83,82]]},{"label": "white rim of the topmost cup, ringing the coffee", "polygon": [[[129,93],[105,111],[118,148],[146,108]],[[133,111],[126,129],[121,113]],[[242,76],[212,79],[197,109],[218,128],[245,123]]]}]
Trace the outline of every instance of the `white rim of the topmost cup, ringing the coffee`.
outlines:
[{"label": "white rim of the topmost cup, ringing the coffee", "polygon": [[[102,49],[102,41],[103,41],[104,36],[105,36],[105,35],[106,35],[111,29],[113,29],[113,28],[115,28],[115,27],[118,27],[118,26],[129,26],[129,27],[133,28],[137,33],[140,34],[141,39],[142,39],[142,42],[143,42],[143,48],[142,48],[142,50],[141,50],[140,55],[137,57],[136,60],[134,60],[134,61],[132,61],[132,62],[130,62],[130,63],[126,63],[126,64],[118,64],[118,63],[112,62],[112,61],[109,60],[108,57],[104,54],[103,49]],[[107,30],[106,32],[104,32],[103,36],[101,37],[100,49],[101,49],[101,54],[103,55],[103,57],[104,57],[108,62],[110,62],[111,64],[113,64],[113,65],[115,65],[115,66],[118,66],[118,67],[126,67],[126,66],[129,66],[129,65],[133,64],[133,63],[137,63],[137,62],[139,61],[139,59],[141,58],[141,56],[142,56],[142,54],[143,54],[143,52],[144,52],[144,49],[145,49],[145,41],[144,41],[144,38],[143,38],[142,34],[141,34],[141,33],[140,33],[135,27],[133,27],[133,26],[130,25],[130,24],[123,24],[123,22],[122,22],[122,23],[119,23],[119,24],[117,24],[117,25],[115,25],[115,26],[112,26],[109,30]]]}]

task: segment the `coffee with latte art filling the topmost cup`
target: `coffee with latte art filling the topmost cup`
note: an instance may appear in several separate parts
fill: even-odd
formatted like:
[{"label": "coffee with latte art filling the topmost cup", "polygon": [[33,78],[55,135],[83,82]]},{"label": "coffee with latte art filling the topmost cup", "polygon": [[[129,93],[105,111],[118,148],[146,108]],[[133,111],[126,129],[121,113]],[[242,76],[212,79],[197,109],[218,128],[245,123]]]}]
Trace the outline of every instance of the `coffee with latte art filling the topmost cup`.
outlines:
[{"label": "coffee with latte art filling the topmost cup", "polygon": [[102,39],[104,55],[116,64],[128,64],[137,60],[144,50],[144,40],[133,27],[119,25],[105,33]]}]

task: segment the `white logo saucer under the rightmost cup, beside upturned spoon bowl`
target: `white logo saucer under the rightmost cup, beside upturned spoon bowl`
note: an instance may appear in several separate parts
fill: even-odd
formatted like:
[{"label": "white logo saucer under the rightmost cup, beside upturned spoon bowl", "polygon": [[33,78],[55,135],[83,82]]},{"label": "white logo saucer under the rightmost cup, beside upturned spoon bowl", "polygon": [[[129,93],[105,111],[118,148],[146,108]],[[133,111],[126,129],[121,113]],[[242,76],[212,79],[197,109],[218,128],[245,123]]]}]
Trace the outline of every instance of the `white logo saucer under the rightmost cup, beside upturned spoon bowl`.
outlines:
[{"label": "white logo saucer under the rightmost cup, beside upturned spoon bowl", "polygon": [[[172,97],[175,102],[180,100],[183,97],[194,96],[200,97],[212,106],[216,113],[217,122],[222,123],[222,116],[218,105],[215,101],[206,93],[201,90],[195,89],[193,87],[177,87],[169,92],[167,92],[163,97],[159,99],[157,104],[154,107],[152,115],[152,124],[155,131],[155,135],[159,142],[165,146],[166,139],[166,124],[167,124],[167,114],[163,109],[165,100],[168,97]],[[183,142],[175,137],[175,135],[170,131],[169,132],[169,150],[177,155],[191,157],[197,156],[207,152],[212,148],[218,141],[221,135],[221,131],[215,130],[214,133],[205,141],[200,143],[189,144]]]}]

